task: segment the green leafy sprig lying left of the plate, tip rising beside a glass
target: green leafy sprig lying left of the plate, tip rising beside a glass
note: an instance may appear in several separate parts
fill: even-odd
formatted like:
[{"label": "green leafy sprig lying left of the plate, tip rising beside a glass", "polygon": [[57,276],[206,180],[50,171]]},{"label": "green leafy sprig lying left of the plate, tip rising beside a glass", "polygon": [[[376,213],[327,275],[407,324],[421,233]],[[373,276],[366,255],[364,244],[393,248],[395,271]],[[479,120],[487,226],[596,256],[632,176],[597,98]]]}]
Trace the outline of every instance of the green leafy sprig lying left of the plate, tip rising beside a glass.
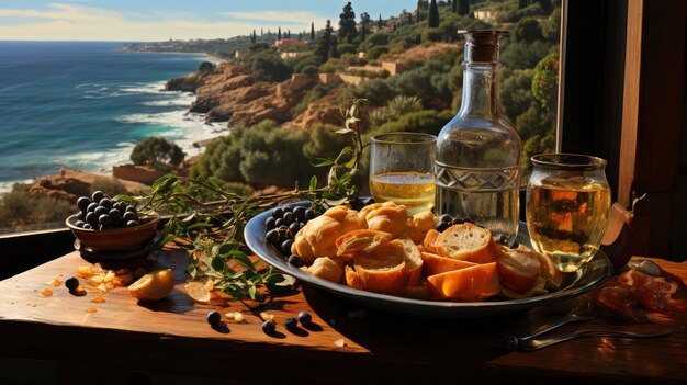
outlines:
[{"label": "green leafy sprig lying left of the plate, tip rising beside a glass", "polygon": [[309,201],[316,213],[345,204],[358,197],[353,177],[360,172],[362,151],[360,112],[365,100],[351,101],[342,111],[345,127],[335,133],[350,137],[351,145],[334,159],[314,159],[318,167],[329,167],[327,184],[317,186],[313,177],[308,188],[284,193],[241,196],[224,191],[218,184],[202,179],[167,174],[150,186],[150,195],[115,199],[135,204],[139,213],[158,213],[169,219],[157,247],[174,240],[189,253],[188,273],[193,279],[209,279],[215,287],[237,299],[264,301],[261,287],[279,284],[284,276],[273,268],[260,268],[249,258],[243,234],[246,223],[255,215],[275,205],[293,201]]}]

